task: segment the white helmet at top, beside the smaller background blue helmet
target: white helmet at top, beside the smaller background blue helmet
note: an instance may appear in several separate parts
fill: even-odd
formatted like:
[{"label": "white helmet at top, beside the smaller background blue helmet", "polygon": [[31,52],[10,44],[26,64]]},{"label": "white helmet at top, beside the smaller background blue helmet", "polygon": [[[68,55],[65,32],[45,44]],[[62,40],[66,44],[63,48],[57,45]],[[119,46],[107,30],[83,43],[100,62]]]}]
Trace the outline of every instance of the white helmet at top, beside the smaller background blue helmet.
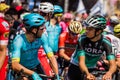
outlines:
[{"label": "white helmet at top, beside the smaller background blue helmet", "polygon": [[49,12],[54,12],[54,6],[53,4],[49,2],[42,2],[39,5],[39,10],[44,12],[44,13],[49,13]]}]

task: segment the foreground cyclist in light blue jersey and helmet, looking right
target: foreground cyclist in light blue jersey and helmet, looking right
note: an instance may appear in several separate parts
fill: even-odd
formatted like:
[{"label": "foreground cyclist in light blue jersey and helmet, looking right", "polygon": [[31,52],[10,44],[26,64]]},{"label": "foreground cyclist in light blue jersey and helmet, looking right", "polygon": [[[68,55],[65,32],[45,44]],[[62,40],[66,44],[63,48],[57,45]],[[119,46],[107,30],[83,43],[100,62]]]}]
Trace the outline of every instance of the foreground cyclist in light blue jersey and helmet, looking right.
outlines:
[{"label": "foreground cyclist in light blue jersey and helmet, looking right", "polygon": [[59,80],[57,61],[52,49],[48,46],[47,33],[44,31],[45,19],[37,13],[30,13],[24,17],[23,23],[26,33],[17,35],[12,43],[13,70],[16,72],[23,70],[23,73],[30,76],[32,80],[46,80],[38,75],[44,74],[38,59],[38,49],[42,45]]}]

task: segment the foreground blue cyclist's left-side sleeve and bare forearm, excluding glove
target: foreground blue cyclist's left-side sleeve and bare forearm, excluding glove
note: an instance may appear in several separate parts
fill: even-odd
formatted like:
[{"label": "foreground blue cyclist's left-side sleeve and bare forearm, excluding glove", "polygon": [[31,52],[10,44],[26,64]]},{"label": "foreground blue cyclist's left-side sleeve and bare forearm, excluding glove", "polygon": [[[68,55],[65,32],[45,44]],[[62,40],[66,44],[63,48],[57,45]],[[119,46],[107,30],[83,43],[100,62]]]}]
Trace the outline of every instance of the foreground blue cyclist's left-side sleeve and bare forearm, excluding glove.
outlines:
[{"label": "foreground blue cyclist's left-side sleeve and bare forearm, excluding glove", "polygon": [[12,47],[13,49],[11,50],[12,53],[12,69],[15,71],[21,71],[21,69],[23,69],[24,73],[27,75],[32,75],[33,71],[25,68],[23,65],[21,65],[20,62],[20,56],[21,56],[21,48],[24,44],[23,39],[20,36],[16,36],[16,38],[14,39],[13,43],[12,43]]}]

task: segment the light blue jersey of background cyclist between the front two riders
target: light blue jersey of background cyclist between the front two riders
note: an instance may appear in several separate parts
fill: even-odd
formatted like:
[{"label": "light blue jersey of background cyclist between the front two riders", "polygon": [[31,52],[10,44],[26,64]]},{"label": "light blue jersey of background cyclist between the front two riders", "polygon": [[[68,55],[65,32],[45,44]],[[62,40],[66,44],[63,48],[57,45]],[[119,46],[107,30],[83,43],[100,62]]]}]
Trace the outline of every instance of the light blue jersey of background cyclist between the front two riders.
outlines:
[{"label": "light blue jersey of background cyclist between the front two riders", "polygon": [[53,52],[56,53],[58,51],[58,41],[59,35],[61,33],[61,27],[59,24],[52,26],[49,22],[46,22],[45,26],[48,34],[49,45],[52,48]]}]

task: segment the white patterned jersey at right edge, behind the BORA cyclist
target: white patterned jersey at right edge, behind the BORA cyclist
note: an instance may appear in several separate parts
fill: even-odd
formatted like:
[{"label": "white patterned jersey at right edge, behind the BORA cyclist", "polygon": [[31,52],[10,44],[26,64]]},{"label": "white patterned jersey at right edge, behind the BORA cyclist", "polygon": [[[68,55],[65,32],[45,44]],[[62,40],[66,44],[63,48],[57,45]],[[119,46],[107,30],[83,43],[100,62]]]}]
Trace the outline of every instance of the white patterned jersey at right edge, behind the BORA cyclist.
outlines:
[{"label": "white patterned jersey at right edge, behind the BORA cyclist", "polygon": [[113,50],[113,53],[115,54],[116,58],[120,58],[120,39],[115,37],[112,34],[106,34],[105,36],[113,44],[112,50]]}]

